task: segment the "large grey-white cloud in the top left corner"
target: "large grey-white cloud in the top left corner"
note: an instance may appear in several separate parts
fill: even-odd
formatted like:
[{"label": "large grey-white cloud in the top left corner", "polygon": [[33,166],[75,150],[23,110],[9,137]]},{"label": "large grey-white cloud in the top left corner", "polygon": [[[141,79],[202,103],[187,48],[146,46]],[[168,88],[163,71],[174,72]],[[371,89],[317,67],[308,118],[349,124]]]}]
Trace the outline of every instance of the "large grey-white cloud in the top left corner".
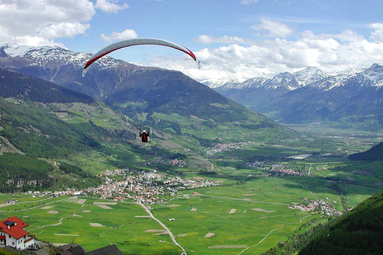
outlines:
[{"label": "large grey-white cloud in the top left corner", "polygon": [[82,34],[95,15],[89,0],[7,0],[0,2],[0,41],[10,45],[59,45],[53,39]]}]

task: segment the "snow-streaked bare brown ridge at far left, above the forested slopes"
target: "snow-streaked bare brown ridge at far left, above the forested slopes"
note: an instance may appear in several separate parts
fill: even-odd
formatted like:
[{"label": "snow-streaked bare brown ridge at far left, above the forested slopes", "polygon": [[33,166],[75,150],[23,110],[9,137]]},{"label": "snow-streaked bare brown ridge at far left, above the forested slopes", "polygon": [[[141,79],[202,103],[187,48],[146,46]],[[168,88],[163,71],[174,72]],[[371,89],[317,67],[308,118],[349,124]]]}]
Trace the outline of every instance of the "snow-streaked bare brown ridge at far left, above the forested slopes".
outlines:
[{"label": "snow-streaked bare brown ridge at far left, above the forested slopes", "polygon": [[87,76],[82,78],[83,66],[92,55],[72,52],[57,46],[10,47],[7,44],[0,44],[0,67],[41,78],[101,100],[111,95],[118,84],[123,84],[126,73],[160,69],[138,67],[123,60],[104,56],[93,63]]}]

